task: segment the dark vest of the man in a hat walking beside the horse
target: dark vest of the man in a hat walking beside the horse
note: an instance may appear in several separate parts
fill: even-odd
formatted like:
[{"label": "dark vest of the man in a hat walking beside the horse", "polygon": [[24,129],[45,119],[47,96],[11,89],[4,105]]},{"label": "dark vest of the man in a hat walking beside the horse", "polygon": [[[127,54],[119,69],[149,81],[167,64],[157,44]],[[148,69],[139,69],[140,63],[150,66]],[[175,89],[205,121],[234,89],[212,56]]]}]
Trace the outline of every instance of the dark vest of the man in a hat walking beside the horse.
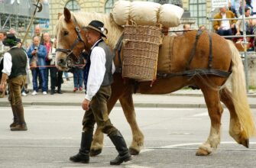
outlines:
[{"label": "dark vest of the man in a hat walking beside the horse", "polygon": [[105,51],[105,75],[102,82],[102,86],[110,86],[113,82],[113,76],[112,76],[112,52],[109,49],[109,46],[105,44],[105,41],[101,41],[98,44],[98,47],[103,48]]}]

